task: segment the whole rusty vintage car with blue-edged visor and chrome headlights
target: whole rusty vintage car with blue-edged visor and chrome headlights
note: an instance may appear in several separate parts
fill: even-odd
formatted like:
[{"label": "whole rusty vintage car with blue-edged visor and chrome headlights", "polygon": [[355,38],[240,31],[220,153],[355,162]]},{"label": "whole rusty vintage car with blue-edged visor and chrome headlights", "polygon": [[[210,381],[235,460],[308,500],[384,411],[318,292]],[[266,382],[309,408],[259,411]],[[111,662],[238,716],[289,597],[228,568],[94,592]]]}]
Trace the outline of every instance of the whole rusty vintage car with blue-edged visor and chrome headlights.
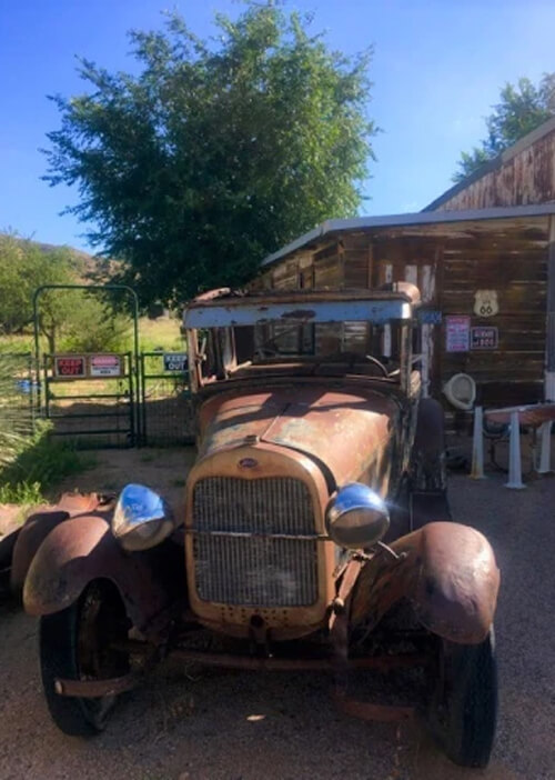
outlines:
[{"label": "whole rusty vintage car with blue-edged visor and chrome headlights", "polygon": [[[137,484],[67,496],[14,546],[12,587],[40,617],[64,732],[101,730],[118,694],[174,654],[329,670],[343,711],[420,713],[453,761],[487,763],[500,574],[486,539],[450,517],[418,308],[402,283],[218,290],[186,308],[198,459],[184,511]],[[379,672],[393,693],[373,689]]]}]

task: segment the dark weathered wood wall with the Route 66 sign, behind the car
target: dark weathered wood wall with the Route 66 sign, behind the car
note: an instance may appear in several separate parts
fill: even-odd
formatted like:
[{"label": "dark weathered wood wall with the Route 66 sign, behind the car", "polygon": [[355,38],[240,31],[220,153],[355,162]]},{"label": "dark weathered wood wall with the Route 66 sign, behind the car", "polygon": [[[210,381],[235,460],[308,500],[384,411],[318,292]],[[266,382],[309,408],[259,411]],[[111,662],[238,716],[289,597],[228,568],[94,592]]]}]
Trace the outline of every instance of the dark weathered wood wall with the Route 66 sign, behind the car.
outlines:
[{"label": "dark weathered wood wall with the Route 66 sign, behind the car", "polygon": [[[541,400],[544,393],[547,310],[548,218],[380,228],[342,233],[285,258],[264,274],[274,288],[376,288],[411,281],[424,303],[442,312],[442,326],[425,326],[424,386],[442,397],[457,372],[470,373],[487,407]],[[474,312],[477,290],[495,290],[500,311]],[[445,318],[467,316],[471,326],[498,329],[495,350],[446,351]],[[370,348],[360,328],[319,326],[319,350],[335,351],[345,337],[352,349]],[[446,402],[445,402],[446,403]]]}]

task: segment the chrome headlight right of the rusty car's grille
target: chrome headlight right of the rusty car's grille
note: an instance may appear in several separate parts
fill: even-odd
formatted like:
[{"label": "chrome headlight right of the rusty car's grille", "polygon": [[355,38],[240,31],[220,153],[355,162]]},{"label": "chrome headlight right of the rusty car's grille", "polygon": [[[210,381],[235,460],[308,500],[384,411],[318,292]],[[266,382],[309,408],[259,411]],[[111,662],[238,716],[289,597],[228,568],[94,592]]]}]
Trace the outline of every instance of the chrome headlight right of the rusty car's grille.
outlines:
[{"label": "chrome headlight right of the rusty car's grille", "polygon": [[390,527],[390,513],[380,496],[365,484],[340,488],[325,510],[327,533],[340,547],[359,550],[376,544]]}]

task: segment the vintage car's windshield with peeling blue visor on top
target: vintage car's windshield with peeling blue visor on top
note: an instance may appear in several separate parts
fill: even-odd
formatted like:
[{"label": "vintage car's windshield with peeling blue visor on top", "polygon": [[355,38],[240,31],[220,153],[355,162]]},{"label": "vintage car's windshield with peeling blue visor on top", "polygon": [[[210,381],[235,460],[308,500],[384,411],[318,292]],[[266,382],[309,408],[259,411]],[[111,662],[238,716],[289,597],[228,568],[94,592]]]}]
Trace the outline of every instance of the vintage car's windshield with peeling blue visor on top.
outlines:
[{"label": "vintage car's windshield with peeling blue visor on top", "polygon": [[406,298],[330,298],[274,294],[193,303],[184,323],[198,383],[276,370],[398,381],[411,360]]}]

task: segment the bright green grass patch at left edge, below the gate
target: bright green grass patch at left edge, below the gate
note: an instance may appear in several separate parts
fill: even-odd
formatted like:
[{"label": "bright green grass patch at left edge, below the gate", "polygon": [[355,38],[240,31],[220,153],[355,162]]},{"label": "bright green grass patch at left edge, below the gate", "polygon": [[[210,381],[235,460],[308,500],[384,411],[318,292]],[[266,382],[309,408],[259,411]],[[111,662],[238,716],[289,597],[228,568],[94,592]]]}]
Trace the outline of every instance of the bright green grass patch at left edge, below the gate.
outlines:
[{"label": "bright green grass patch at left edge, below the gate", "polygon": [[34,434],[20,439],[12,457],[0,468],[0,502],[32,504],[64,477],[94,464],[94,458],[78,453],[50,434],[50,426],[38,426]]}]

